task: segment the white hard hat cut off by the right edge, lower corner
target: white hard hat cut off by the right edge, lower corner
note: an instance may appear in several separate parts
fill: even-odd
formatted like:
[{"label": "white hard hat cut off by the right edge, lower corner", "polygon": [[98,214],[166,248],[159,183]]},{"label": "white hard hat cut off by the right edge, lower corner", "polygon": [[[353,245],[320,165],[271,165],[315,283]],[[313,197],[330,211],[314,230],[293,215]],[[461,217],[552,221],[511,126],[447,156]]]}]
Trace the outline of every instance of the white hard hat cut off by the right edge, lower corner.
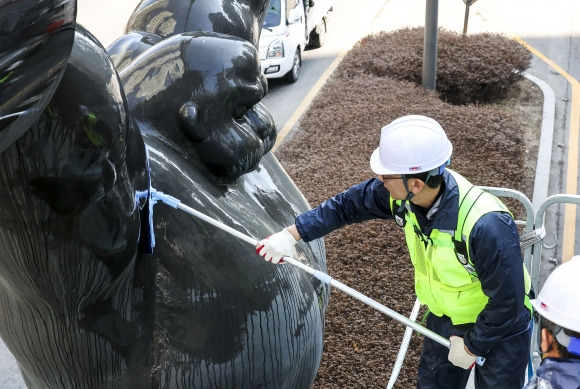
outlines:
[{"label": "white hard hat cut off by the right edge, lower corner", "polygon": [[540,315],[575,332],[580,332],[579,276],[580,255],[577,255],[554,269],[538,298],[531,300]]}]

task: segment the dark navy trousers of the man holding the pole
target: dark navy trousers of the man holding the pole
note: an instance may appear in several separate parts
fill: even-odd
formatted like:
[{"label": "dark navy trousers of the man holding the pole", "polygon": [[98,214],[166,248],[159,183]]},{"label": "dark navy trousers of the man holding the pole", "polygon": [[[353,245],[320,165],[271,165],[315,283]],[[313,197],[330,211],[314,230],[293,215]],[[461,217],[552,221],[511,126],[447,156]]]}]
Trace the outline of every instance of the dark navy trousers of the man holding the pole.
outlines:
[{"label": "dark navy trousers of the man holding the pole", "polygon": [[[527,317],[529,318],[529,313]],[[499,341],[485,355],[486,360],[483,366],[475,365],[475,389],[522,388],[530,356],[530,327],[526,326],[523,321],[522,325],[518,326],[519,329]],[[473,324],[453,326],[451,319],[446,316],[438,317],[429,314],[427,318],[427,328],[447,339],[451,335],[463,336],[472,327]],[[448,348],[425,337],[419,361],[417,388],[465,388],[471,370],[454,366],[447,359],[448,354]]]}]

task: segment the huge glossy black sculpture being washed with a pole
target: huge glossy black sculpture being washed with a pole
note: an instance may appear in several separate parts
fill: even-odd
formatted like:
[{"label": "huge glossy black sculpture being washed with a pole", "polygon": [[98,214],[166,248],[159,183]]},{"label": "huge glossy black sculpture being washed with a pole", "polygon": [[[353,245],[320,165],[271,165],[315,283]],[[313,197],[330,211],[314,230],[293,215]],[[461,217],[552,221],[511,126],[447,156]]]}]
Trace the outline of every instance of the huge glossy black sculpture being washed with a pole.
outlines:
[{"label": "huge glossy black sculpture being washed with a pole", "polygon": [[[0,335],[28,387],[312,385],[328,287],[150,197],[254,238],[307,209],[269,152],[246,29],[266,2],[236,29],[237,2],[205,19],[218,2],[163,2],[199,4],[212,30],[129,33],[150,41],[119,73],[74,1],[0,0]],[[324,256],[298,245],[323,271]]]}]

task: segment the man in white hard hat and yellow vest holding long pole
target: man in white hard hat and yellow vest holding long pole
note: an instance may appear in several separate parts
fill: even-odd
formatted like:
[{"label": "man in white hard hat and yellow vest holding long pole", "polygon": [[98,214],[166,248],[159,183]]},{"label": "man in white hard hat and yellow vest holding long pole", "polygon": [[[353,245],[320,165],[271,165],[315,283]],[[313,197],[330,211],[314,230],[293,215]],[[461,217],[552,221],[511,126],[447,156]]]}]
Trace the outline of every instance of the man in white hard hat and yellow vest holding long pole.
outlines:
[{"label": "man in white hard hat and yellow vest holding long pole", "polygon": [[256,251],[281,263],[300,239],[365,220],[395,220],[405,233],[417,297],[430,312],[426,326],[451,343],[447,349],[424,339],[417,387],[463,388],[474,368],[476,389],[520,389],[531,305],[518,230],[499,199],[446,167],[451,153],[435,120],[410,115],[391,122],[370,158],[376,178],[299,215]]}]

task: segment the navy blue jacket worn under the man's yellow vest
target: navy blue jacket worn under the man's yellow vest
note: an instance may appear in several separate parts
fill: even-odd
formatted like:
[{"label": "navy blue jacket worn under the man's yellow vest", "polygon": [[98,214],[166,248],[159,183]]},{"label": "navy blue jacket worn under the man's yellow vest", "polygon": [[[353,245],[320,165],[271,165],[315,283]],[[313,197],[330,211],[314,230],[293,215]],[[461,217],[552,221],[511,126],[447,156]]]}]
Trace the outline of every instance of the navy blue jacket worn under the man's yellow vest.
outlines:
[{"label": "navy blue jacket worn under the man's yellow vest", "polygon": [[[449,172],[445,171],[443,177],[441,201],[431,219],[415,212],[421,231],[427,236],[434,228],[454,231],[457,227],[459,190]],[[393,219],[389,197],[383,183],[372,178],[299,215],[295,224],[301,238],[308,242],[346,224]],[[411,207],[415,207],[413,203]],[[524,306],[523,258],[512,217],[503,212],[482,216],[469,241],[470,259],[489,301],[467,332],[465,344],[472,353],[483,356],[503,337],[526,330],[530,312]]]}]

